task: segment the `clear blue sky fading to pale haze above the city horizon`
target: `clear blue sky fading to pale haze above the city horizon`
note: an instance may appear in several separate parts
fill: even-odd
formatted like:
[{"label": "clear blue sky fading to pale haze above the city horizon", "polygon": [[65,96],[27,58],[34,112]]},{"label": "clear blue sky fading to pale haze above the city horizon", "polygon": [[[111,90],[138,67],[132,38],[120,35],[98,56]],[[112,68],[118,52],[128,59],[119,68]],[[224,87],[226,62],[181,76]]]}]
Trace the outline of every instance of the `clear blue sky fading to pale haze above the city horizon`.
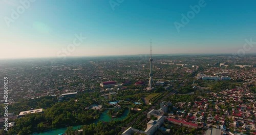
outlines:
[{"label": "clear blue sky fading to pale haze above the city horizon", "polygon": [[[29,5],[0,1],[0,58],[148,54],[151,38],[153,54],[237,53],[245,39],[256,41],[252,0],[205,0],[179,32],[174,22],[200,1],[22,1]],[[24,13],[13,18],[20,6]],[[86,39],[63,51],[75,34]],[[256,52],[255,46],[246,53]]]}]

